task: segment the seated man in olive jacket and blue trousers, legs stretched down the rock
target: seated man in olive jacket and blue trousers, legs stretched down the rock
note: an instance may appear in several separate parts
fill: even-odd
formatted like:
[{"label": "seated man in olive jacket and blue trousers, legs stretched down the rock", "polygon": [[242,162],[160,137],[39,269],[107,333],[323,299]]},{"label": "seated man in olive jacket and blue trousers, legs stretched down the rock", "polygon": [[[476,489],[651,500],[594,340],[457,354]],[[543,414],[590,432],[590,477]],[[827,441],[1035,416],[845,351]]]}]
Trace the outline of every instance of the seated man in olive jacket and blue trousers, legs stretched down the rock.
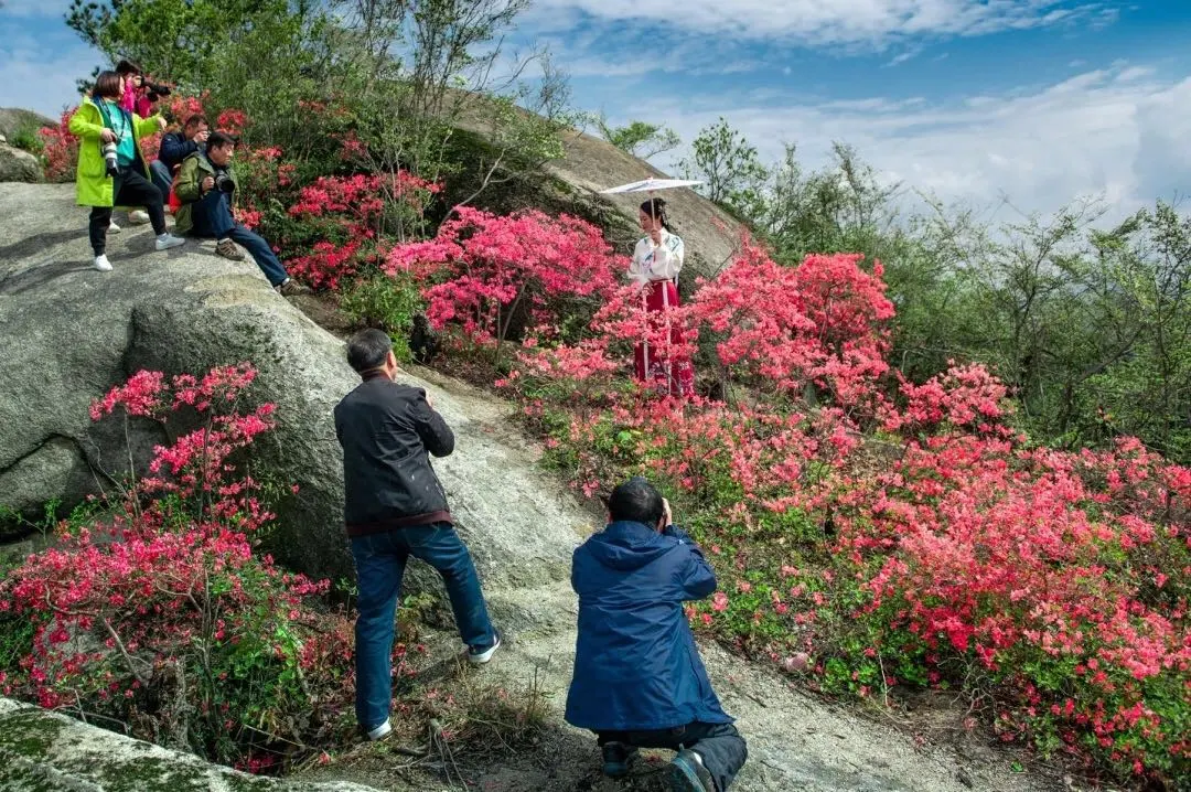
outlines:
[{"label": "seated man in olive jacket and blue trousers, legs stretched down the rock", "polygon": [[286,274],[285,267],[268,242],[236,222],[232,200],[239,189],[232,157],[236,139],[225,132],[212,132],[207,150],[197,151],[182,162],[174,188],[182,207],[177,210],[177,231],[197,237],[214,237],[216,252],[224,258],[242,261],[244,245],[269,283],[283,295],[306,294],[308,288]]}]

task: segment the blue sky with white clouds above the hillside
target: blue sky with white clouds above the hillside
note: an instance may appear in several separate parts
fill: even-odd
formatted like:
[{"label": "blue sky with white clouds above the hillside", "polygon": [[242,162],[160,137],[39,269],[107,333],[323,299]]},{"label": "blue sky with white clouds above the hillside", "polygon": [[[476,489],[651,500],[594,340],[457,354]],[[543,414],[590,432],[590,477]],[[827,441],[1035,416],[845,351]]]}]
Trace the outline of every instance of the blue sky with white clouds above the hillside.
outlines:
[{"label": "blue sky with white clouds above the hillside", "polygon": [[[73,100],[96,57],[67,5],[6,0],[0,105]],[[1191,188],[1189,0],[537,0],[513,38],[613,121],[690,141],[724,116],[812,167],[838,139],[944,201],[1120,216]]]}]

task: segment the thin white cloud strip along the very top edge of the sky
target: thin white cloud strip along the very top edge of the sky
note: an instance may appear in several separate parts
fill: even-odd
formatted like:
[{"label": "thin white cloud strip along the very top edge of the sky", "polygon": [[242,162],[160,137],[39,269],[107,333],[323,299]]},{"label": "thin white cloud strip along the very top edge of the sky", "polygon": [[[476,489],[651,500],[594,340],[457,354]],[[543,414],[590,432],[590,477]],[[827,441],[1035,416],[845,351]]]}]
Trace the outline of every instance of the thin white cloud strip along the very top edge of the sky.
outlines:
[{"label": "thin white cloud strip along the very top edge of the sky", "polygon": [[983,36],[1086,21],[1110,24],[1103,0],[538,0],[535,21],[566,30],[575,12],[618,23],[623,32],[648,24],[725,38],[793,39],[803,45],[884,46],[910,37]]}]

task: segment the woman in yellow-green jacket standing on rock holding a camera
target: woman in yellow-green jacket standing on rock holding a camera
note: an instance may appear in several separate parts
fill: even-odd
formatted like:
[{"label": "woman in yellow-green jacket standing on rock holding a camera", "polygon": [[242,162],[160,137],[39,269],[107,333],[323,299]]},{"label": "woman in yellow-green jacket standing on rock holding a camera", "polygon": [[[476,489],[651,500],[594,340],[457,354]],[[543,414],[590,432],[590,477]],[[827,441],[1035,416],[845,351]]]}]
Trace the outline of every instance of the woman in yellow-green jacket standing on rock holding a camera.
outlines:
[{"label": "woman in yellow-green jacket standing on rock holding a camera", "polygon": [[168,250],[186,239],[166,232],[161,191],[149,181],[141,138],[166,125],[160,116],[141,118],[120,107],[124,81],[114,71],[101,71],[89,99],[70,118],[70,133],[79,138],[79,173],[75,186],[79,205],[91,206],[91,247],[95,269],[111,272],[107,261],[107,226],[112,206],[144,206],[149,212],[157,250]]}]

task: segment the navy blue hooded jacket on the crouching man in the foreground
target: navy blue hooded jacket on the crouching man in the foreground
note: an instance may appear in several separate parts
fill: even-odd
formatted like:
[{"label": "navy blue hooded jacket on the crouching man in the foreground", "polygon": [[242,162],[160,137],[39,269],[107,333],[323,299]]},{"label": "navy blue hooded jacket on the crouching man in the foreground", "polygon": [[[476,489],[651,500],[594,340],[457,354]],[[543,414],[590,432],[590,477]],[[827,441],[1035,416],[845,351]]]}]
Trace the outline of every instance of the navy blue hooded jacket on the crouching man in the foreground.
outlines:
[{"label": "navy blue hooded jacket on the crouching man in the foreground", "polygon": [[731,723],[711,690],[682,603],[716,573],[680,529],[612,523],[575,550],[575,672],[567,722],[593,731]]}]

